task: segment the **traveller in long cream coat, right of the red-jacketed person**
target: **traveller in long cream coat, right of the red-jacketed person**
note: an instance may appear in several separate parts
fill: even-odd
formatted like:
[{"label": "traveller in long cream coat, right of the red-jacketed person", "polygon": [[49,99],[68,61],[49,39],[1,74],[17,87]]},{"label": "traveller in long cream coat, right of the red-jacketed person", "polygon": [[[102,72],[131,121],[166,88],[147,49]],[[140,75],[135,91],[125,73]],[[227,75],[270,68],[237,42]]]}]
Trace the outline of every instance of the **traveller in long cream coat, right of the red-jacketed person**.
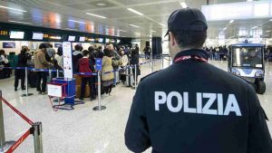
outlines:
[{"label": "traveller in long cream coat, right of the red-jacketed person", "polygon": [[112,85],[114,80],[114,74],[112,71],[112,52],[106,48],[104,49],[104,56],[102,58],[102,73],[109,73],[102,74],[102,86],[104,87],[106,94],[109,93],[109,95],[112,92]]}]

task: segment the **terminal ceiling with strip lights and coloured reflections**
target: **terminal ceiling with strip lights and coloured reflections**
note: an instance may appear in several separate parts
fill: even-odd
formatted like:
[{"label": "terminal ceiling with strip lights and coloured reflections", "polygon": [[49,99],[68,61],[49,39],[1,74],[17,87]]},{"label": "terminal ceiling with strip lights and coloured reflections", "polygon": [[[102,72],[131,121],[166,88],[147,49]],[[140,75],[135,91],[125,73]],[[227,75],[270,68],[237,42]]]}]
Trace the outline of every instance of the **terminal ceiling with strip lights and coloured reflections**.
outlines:
[{"label": "terminal ceiling with strip lights and coloured reflections", "polygon": [[[161,36],[167,31],[167,27],[160,24],[167,25],[169,15],[181,7],[179,1],[185,1],[189,7],[201,8],[201,5],[207,5],[207,0],[0,0],[0,5],[27,11],[22,13],[0,8],[0,21],[8,23],[15,20],[35,26],[144,38],[150,34]],[[209,5],[245,1],[209,0]],[[127,8],[133,8],[144,15],[134,14]],[[86,12],[108,18],[98,18],[85,14]],[[228,28],[224,31],[226,37],[235,35],[241,28],[250,30],[257,25],[264,32],[272,32],[272,22],[267,18],[237,20],[233,24],[228,22],[209,22],[209,38],[216,38],[224,27]],[[130,24],[139,25],[140,28],[131,27]],[[118,32],[119,30],[126,32]],[[151,30],[155,32],[151,33]]]}]

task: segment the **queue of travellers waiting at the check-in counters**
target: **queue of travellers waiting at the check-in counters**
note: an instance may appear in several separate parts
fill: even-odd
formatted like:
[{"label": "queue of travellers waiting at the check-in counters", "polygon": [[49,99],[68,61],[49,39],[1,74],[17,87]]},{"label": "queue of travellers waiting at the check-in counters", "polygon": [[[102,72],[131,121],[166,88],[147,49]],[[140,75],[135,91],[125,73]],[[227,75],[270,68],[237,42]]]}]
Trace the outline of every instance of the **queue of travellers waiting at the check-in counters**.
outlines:
[{"label": "queue of travellers waiting at the check-in counters", "polygon": [[[1,63],[8,65],[8,60],[5,55],[5,51],[1,50]],[[119,82],[126,82],[126,72],[120,68],[125,68],[128,65],[139,64],[139,47],[135,45],[133,48],[128,46],[114,46],[112,43],[106,44],[102,50],[102,46],[93,47],[90,46],[88,50],[83,50],[83,46],[76,44],[72,53],[73,61],[73,73],[86,72],[92,74],[95,71],[95,59],[102,59],[102,93],[111,94],[112,88]],[[27,46],[23,46],[21,52],[18,54],[18,62],[16,67],[34,67],[37,69],[35,72],[29,72],[28,81],[34,83],[34,87],[38,94],[46,95],[46,83],[57,77],[56,72],[39,71],[39,69],[51,69],[51,70],[63,70],[63,48],[59,47],[57,51],[53,49],[53,46],[49,43],[41,43],[36,51],[30,52]],[[138,76],[141,74],[139,65],[136,67],[136,78],[135,67],[132,67],[131,73],[133,72],[133,80],[135,83],[138,82]],[[9,69],[3,69],[9,70]],[[83,100],[85,88],[90,87],[90,100],[95,100],[97,96],[97,76],[94,75],[79,75],[81,77],[81,91],[79,99]],[[59,73],[59,77],[63,77],[63,73]],[[118,79],[117,79],[118,78]],[[120,78],[120,80],[119,80]],[[21,82],[20,82],[21,81]],[[20,83],[19,83],[20,82]],[[27,82],[27,83],[29,83]],[[15,70],[15,91],[18,91],[19,84],[21,90],[25,90],[25,70]],[[32,86],[31,86],[32,87]]]}]

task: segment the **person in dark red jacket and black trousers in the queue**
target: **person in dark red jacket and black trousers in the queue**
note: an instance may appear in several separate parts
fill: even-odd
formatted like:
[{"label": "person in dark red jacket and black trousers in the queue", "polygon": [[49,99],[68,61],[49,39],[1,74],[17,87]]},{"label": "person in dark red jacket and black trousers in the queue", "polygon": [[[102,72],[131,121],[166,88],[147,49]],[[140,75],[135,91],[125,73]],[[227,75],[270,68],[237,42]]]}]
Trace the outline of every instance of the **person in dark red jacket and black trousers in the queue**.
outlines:
[{"label": "person in dark red jacket and black trousers in the queue", "polygon": [[[93,63],[89,59],[90,53],[87,50],[83,51],[83,58],[79,60],[79,72],[94,72],[94,66]],[[92,74],[81,74],[82,77],[82,87],[81,87],[81,96],[80,100],[83,100],[84,93],[85,93],[85,87],[87,82],[89,82],[90,87],[90,97],[91,101],[95,100],[95,94],[94,94],[94,80]]]}]

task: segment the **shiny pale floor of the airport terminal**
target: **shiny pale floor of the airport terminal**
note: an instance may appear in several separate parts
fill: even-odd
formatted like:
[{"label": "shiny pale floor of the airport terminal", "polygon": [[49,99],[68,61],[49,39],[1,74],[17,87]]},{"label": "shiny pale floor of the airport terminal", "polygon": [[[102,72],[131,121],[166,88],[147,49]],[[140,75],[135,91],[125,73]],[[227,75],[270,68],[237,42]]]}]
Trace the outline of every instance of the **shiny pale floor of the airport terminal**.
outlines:
[{"label": "shiny pale floor of the airport terminal", "polygon": [[[227,70],[227,62],[211,62]],[[165,61],[164,66],[169,62]],[[154,70],[161,68],[160,62]],[[267,116],[272,120],[272,63],[267,63],[267,92],[259,95]],[[149,65],[141,67],[141,76],[151,72]],[[0,90],[6,100],[11,102],[24,115],[34,121],[43,122],[44,153],[129,153],[124,145],[124,129],[131,108],[131,99],[135,93],[131,88],[118,85],[112,96],[102,96],[102,104],[107,107],[101,112],[93,111],[97,101],[86,101],[75,106],[75,110],[53,111],[48,97],[38,95],[30,89],[33,96],[22,98],[23,91],[14,91],[14,78],[0,80]],[[18,139],[29,125],[4,104],[5,137]],[[270,131],[272,123],[267,122]],[[33,137],[26,139],[15,152],[34,152]],[[150,153],[151,149],[146,153]]]}]

